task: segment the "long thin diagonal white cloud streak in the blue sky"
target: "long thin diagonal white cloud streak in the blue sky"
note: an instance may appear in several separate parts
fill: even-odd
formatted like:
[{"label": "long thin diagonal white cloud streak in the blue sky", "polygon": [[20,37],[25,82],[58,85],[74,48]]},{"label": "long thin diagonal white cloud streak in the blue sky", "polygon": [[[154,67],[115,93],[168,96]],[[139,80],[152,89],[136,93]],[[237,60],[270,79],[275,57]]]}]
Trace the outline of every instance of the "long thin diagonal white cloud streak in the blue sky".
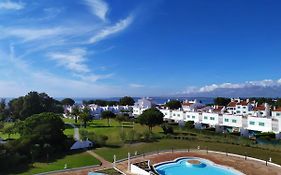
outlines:
[{"label": "long thin diagonal white cloud streak in the blue sky", "polygon": [[95,36],[93,36],[89,43],[94,44],[98,41],[106,39],[108,36],[111,36],[115,33],[118,33],[124,29],[126,29],[133,22],[133,16],[128,16],[127,18],[120,20],[114,26],[106,27],[105,29],[98,32]]}]

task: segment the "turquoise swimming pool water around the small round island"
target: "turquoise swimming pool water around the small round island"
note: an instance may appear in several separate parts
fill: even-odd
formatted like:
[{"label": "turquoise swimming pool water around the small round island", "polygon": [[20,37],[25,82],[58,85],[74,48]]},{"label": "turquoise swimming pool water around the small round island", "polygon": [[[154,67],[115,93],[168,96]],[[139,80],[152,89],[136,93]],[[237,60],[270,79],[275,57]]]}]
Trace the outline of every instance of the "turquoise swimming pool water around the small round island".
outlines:
[{"label": "turquoise swimming pool water around the small round island", "polygon": [[[192,165],[188,160],[199,160],[201,163]],[[241,175],[238,171],[219,166],[201,158],[181,158],[175,162],[163,163],[155,166],[160,175]]]}]

